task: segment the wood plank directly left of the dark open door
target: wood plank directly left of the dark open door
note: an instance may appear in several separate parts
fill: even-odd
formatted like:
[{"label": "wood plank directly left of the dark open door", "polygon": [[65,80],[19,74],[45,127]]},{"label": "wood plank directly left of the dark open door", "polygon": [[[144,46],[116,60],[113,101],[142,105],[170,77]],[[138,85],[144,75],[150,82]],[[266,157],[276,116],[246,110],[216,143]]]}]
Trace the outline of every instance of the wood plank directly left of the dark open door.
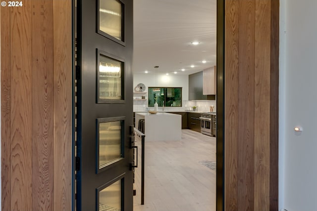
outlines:
[{"label": "wood plank directly left of the dark open door", "polygon": [[54,210],[71,208],[71,1],[54,1]]}]

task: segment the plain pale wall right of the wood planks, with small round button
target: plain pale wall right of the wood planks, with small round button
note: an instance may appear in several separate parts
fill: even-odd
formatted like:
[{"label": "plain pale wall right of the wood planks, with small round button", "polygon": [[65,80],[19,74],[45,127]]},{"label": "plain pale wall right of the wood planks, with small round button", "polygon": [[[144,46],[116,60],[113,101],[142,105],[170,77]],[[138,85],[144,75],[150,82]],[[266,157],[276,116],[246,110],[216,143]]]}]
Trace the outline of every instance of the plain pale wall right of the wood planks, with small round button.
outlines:
[{"label": "plain pale wall right of the wood planks, with small round button", "polygon": [[[280,208],[317,210],[317,0],[281,0]],[[284,15],[285,14],[285,15]],[[285,18],[285,24],[283,23]],[[285,32],[284,32],[285,31]],[[294,127],[303,127],[295,132]]]}]

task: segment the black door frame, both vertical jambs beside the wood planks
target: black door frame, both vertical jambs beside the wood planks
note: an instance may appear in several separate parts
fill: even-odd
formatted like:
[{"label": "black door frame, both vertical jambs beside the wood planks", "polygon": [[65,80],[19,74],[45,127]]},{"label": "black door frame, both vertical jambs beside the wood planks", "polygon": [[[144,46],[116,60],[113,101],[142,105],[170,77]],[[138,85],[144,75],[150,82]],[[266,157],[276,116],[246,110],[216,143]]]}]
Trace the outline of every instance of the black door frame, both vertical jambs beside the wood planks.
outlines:
[{"label": "black door frame, both vertical jambs beside the wood planks", "polygon": [[[224,0],[216,0],[216,66],[217,66],[217,88],[216,88],[216,211],[224,211]],[[75,0],[72,0],[72,23],[75,24]],[[75,26],[75,25],[74,25]],[[73,78],[76,77],[75,70],[75,33],[72,29],[73,38]],[[74,82],[74,80],[72,80]],[[75,164],[75,84],[72,84],[72,163]],[[72,211],[75,210],[75,166],[72,168]]]}]

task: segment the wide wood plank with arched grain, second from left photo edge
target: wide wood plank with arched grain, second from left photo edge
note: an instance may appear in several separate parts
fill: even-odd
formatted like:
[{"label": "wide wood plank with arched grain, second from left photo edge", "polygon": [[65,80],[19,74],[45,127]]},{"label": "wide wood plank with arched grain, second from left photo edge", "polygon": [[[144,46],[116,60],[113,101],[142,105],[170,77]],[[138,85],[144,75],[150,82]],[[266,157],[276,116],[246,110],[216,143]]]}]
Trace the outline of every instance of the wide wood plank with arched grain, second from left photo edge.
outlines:
[{"label": "wide wood plank with arched grain, second from left photo edge", "polygon": [[11,209],[32,210],[32,2],[11,10]]}]

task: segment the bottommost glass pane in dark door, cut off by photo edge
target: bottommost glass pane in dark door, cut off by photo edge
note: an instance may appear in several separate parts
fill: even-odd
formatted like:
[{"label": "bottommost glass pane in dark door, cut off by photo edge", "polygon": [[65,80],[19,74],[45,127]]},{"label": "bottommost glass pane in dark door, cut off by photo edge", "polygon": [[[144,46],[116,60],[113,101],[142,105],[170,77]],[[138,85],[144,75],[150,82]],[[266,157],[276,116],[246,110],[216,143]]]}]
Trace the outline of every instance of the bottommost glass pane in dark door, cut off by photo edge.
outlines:
[{"label": "bottommost glass pane in dark door, cut off by photo edge", "polygon": [[121,180],[99,192],[99,211],[121,211]]}]

